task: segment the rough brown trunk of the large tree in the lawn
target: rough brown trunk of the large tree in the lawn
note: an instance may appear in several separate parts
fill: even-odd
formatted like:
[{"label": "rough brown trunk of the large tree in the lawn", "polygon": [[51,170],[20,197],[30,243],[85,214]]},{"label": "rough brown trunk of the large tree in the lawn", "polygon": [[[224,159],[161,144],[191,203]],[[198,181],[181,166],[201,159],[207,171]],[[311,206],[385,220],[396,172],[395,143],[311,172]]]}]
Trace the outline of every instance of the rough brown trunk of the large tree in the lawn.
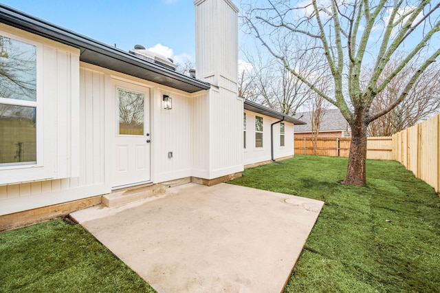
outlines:
[{"label": "rough brown trunk of the large tree in the lawn", "polygon": [[[359,113],[361,112],[361,113]],[[366,186],[366,129],[368,124],[364,121],[363,111],[355,115],[351,124],[351,146],[347,176],[343,184]]]}]

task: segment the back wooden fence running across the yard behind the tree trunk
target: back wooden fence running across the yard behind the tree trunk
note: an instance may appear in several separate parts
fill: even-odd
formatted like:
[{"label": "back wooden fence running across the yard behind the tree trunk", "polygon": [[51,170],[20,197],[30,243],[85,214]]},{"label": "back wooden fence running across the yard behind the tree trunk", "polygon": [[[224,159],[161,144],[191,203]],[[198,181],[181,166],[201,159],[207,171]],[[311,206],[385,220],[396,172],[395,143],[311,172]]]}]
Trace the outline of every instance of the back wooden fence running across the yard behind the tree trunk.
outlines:
[{"label": "back wooden fence running across the yard behind the tree trunk", "polygon": [[[348,157],[351,138],[318,138],[317,155]],[[368,138],[366,142],[366,158],[377,160],[393,160],[393,141],[391,136]],[[295,153],[314,154],[314,144],[310,136],[295,137]]]}]

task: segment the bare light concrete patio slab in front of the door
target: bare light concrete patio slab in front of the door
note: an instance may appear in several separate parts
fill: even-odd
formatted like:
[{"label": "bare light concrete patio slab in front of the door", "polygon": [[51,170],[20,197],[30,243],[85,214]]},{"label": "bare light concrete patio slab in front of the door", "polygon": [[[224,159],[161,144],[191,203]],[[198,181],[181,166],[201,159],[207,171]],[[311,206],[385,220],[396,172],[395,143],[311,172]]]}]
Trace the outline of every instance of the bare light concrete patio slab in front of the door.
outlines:
[{"label": "bare light concrete patio slab in front of the door", "polygon": [[157,292],[281,292],[323,202],[184,184],[71,216]]}]

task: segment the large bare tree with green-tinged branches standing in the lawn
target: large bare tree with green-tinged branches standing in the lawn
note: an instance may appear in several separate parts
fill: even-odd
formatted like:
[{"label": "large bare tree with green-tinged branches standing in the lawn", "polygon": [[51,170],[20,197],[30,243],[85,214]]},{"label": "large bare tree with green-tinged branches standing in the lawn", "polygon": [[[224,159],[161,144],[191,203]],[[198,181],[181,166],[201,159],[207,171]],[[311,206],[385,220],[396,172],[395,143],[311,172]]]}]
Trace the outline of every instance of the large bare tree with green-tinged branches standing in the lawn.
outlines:
[{"label": "large bare tree with green-tinged branches standing in the lawn", "polygon": [[[300,3],[294,6],[289,1],[267,0],[267,5],[261,3],[257,8],[250,5],[245,14],[248,28],[292,75],[340,109],[352,131],[343,183],[365,186],[367,127],[405,100],[423,71],[440,55],[439,46],[430,45],[432,36],[440,30],[440,3],[431,4],[429,0]],[[325,56],[320,70],[332,76],[331,93],[321,91],[314,80],[289,63],[276,46],[281,35],[303,36],[315,52]],[[384,68],[397,50],[404,50],[406,55],[391,73],[385,74]],[[419,66],[408,73],[399,94],[382,109],[373,111],[371,106],[377,94],[410,61],[418,61]],[[373,64],[371,72],[366,72],[366,64]]]}]

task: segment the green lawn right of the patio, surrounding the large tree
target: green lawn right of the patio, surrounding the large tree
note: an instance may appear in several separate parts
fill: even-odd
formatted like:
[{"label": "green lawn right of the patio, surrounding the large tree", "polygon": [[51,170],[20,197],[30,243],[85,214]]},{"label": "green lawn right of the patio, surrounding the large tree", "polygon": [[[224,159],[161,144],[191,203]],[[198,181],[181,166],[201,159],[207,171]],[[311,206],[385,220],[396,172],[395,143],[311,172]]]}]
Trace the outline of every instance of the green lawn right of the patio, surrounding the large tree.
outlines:
[{"label": "green lawn right of the patio, surrounding the large tree", "polygon": [[347,186],[347,158],[295,155],[232,184],[325,202],[286,292],[440,292],[440,198],[397,162],[367,160]]}]

